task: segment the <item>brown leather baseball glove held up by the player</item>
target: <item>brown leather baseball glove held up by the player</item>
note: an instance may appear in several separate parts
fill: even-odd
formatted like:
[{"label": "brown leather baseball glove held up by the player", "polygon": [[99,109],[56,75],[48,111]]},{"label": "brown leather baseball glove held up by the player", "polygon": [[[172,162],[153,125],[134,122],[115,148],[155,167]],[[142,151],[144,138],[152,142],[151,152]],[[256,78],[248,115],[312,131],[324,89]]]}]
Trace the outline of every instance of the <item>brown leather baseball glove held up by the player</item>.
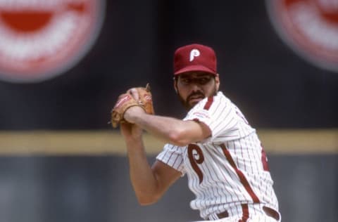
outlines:
[{"label": "brown leather baseball glove held up by the player", "polygon": [[139,100],[135,100],[131,93],[123,93],[118,96],[118,101],[115,103],[113,110],[111,110],[111,126],[118,127],[121,122],[126,122],[123,118],[125,111],[132,106],[139,106],[148,114],[154,115],[153,98],[151,96],[150,86],[136,87]]}]

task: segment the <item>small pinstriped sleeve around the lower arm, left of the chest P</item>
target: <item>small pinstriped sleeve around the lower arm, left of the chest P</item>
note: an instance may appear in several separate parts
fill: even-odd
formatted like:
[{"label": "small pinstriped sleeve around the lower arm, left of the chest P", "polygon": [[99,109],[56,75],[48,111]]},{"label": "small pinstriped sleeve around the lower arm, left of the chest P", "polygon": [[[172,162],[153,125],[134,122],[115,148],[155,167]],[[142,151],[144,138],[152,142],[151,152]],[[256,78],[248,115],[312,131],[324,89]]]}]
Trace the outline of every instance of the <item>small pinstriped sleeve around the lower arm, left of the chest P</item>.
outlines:
[{"label": "small pinstriped sleeve around the lower arm, left of the chest P", "polygon": [[182,151],[183,148],[177,145],[165,144],[163,151],[158,154],[156,159],[180,171],[184,176],[185,169],[183,164]]}]

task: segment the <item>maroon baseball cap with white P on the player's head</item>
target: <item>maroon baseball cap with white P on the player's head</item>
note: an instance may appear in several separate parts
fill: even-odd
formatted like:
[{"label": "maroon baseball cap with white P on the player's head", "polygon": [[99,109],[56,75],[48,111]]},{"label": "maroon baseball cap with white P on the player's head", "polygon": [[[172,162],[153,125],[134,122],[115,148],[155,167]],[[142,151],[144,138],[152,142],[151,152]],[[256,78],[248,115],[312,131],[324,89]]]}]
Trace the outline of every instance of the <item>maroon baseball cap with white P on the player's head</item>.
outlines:
[{"label": "maroon baseball cap with white P on the player's head", "polygon": [[217,60],[213,48],[201,44],[177,48],[174,55],[174,75],[191,71],[217,74]]}]

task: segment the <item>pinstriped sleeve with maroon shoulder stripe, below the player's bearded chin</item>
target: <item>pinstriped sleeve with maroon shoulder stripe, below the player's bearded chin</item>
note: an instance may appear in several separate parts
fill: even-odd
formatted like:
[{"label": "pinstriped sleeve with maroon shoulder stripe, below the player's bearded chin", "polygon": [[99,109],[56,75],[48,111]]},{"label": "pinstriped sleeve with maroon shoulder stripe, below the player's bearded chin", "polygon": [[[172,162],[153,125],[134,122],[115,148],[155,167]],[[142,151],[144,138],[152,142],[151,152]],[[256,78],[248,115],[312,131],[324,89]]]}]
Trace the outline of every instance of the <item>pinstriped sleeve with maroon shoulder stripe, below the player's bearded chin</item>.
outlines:
[{"label": "pinstriped sleeve with maroon shoulder stripe, below the player's bearded chin", "polygon": [[203,143],[231,141],[239,138],[237,117],[230,100],[224,96],[213,96],[201,100],[183,120],[203,122],[211,129],[211,137]]}]

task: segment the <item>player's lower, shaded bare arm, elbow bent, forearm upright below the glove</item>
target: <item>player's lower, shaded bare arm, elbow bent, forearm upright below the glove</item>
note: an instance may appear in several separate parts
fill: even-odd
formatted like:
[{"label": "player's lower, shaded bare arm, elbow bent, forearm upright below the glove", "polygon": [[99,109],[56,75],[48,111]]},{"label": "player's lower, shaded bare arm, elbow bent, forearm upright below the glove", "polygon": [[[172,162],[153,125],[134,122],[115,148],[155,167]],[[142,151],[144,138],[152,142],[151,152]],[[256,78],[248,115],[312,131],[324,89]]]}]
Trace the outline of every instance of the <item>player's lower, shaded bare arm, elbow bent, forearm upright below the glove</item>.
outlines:
[{"label": "player's lower, shaded bare arm, elbow bent, forearm upright below the glove", "polygon": [[135,124],[121,124],[125,138],[130,165],[130,180],[139,204],[157,202],[181,174],[163,162],[156,161],[153,166],[146,159],[142,140],[142,129]]}]

